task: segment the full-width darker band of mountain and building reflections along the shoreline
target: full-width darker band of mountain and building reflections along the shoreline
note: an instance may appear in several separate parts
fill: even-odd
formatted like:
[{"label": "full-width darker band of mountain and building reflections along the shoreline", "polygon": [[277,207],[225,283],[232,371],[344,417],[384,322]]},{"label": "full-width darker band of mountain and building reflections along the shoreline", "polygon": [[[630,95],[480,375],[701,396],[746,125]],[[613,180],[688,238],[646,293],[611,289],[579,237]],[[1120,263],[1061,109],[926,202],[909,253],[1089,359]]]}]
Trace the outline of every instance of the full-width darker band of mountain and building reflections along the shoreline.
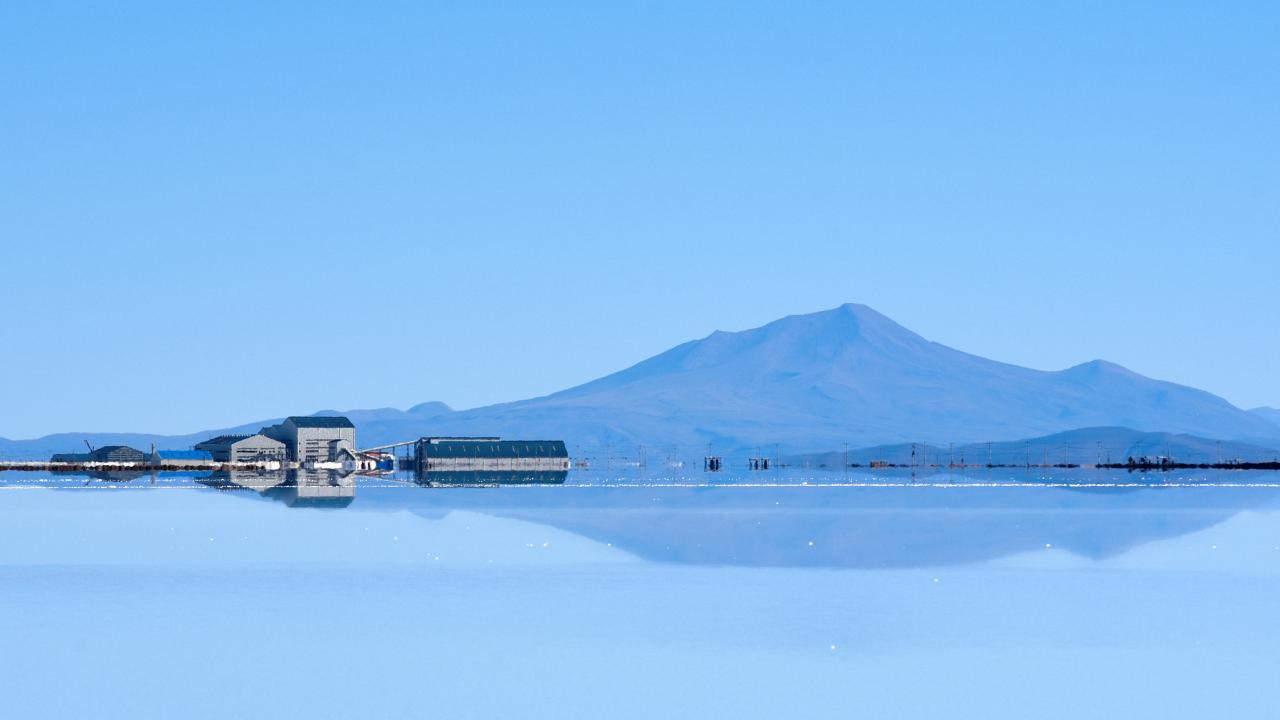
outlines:
[{"label": "full-width darker band of mountain and building reflections along the shoreline", "polygon": [[1053,548],[1105,560],[1280,506],[1268,473],[844,474],[609,478],[568,473],[334,470],[0,474],[0,487],[211,488],[294,509],[451,512],[536,523],[685,565],[913,568]]}]

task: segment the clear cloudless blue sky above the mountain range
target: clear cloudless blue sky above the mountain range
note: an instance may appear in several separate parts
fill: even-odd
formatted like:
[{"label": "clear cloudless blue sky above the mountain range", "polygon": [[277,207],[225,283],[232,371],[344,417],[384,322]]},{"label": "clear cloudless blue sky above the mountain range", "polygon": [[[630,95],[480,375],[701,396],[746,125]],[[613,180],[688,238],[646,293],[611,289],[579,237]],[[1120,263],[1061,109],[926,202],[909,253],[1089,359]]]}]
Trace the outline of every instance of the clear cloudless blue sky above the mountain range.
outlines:
[{"label": "clear cloudless blue sky above the mountain range", "polygon": [[846,301],[1280,405],[1272,3],[110,5],[0,5],[0,436],[476,406]]}]

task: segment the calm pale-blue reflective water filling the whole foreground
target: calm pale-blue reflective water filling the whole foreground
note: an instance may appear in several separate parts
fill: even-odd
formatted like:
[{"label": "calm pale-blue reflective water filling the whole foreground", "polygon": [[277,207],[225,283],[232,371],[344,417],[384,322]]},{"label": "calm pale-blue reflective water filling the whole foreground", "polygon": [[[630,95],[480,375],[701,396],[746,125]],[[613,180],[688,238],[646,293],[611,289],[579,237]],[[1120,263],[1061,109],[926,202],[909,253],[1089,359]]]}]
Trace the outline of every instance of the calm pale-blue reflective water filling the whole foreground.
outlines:
[{"label": "calm pale-blue reflective water filling the whole foreground", "polygon": [[3,474],[5,716],[1276,716],[1277,479]]}]

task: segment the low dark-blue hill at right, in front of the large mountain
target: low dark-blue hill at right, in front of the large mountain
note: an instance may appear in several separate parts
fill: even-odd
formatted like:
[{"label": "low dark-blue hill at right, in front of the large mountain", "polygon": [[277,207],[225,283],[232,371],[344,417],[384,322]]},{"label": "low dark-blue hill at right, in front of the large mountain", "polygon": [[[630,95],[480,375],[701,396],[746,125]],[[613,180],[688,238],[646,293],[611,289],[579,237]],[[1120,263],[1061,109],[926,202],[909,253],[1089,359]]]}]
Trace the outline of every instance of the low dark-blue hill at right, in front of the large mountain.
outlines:
[{"label": "low dark-blue hill at right, in front of the large mountain", "polygon": [[[1270,461],[1280,457],[1276,446],[1260,446],[1238,441],[1216,441],[1189,434],[1144,433],[1129,428],[1082,428],[1065,433],[1011,442],[970,443],[957,446],[882,445],[851,448],[849,462],[869,465],[873,461],[909,465],[915,452],[918,464],[1059,464],[1093,465],[1124,462],[1129,457],[1169,456],[1180,462],[1217,462],[1230,460]],[[788,456],[791,465],[840,468],[844,450]]]}]

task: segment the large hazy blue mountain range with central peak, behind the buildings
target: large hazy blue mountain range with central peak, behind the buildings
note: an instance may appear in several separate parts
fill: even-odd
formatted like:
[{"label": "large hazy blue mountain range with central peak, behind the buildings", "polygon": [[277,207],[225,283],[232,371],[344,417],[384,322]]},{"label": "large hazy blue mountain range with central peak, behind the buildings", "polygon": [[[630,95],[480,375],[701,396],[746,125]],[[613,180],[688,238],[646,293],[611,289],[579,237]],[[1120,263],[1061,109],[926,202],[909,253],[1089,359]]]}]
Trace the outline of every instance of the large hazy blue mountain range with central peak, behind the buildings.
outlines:
[{"label": "large hazy blue mountain range with central peak, behind the buildings", "polygon": [[[708,446],[778,445],[797,454],[844,443],[1012,441],[1098,427],[1224,439],[1280,437],[1262,415],[1199,389],[1102,360],[1059,372],[987,360],[931,342],[863,305],[714,332],[545,397],[462,411],[424,404],[347,414],[365,447],[424,434],[499,434],[563,438],[577,448],[676,446],[685,456]],[[76,450],[82,437],[60,437],[59,450]],[[90,437],[108,442],[108,436]],[[127,442],[133,436],[110,437]],[[173,447],[197,436],[137,437],[138,445]],[[29,451],[32,443],[44,452],[52,447],[47,439],[0,442],[0,454]]]}]

